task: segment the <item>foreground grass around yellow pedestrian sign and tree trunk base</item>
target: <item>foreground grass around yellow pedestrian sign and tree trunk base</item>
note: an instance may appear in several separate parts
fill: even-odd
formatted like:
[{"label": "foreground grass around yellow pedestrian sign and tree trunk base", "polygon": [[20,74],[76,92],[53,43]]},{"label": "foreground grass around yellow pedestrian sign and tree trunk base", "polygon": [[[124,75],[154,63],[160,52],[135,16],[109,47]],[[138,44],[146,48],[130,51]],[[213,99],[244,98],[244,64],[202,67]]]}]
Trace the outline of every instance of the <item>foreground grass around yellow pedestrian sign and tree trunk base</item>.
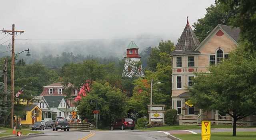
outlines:
[{"label": "foreground grass around yellow pedestrian sign and tree trunk base", "polygon": [[[255,140],[256,132],[215,132],[211,133],[211,140]],[[182,140],[202,140],[201,134],[172,134]]]}]

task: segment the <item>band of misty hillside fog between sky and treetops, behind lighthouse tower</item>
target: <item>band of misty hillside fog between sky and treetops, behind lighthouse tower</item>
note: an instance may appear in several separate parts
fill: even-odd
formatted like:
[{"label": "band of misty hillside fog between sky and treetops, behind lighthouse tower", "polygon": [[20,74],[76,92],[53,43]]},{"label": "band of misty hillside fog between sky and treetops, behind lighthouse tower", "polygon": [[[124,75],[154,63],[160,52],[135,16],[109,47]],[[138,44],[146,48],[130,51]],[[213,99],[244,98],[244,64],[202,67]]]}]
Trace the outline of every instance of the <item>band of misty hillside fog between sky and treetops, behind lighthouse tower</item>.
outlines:
[{"label": "band of misty hillside fog between sky and treetops, behind lighthouse tower", "polygon": [[[52,55],[54,57],[60,56],[62,52],[73,53],[75,56],[81,54],[81,56],[94,56],[94,57],[110,57],[124,58],[126,55],[126,46],[131,40],[138,45],[139,53],[143,52],[146,47],[158,46],[161,41],[160,38],[150,38],[149,36],[141,37],[143,39],[104,39],[104,40],[82,40],[82,41],[69,41],[69,42],[48,42],[48,43],[36,43],[31,42],[18,42],[15,44],[15,53],[21,52],[29,48],[31,57],[26,57],[26,53],[19,54],[18,59],[23,58],[28,64],[35,62],[36,60],[44,61],[44,56]],[[168,40],[168,39],[164,39]],[[172,40],[173,41],[173,40]],[[176,40],[175,40],[176,41]],[[1,46],[0,51],[5,52],[7,46]],[[0,57],[11,55],[10,52],[1,53]]]}]

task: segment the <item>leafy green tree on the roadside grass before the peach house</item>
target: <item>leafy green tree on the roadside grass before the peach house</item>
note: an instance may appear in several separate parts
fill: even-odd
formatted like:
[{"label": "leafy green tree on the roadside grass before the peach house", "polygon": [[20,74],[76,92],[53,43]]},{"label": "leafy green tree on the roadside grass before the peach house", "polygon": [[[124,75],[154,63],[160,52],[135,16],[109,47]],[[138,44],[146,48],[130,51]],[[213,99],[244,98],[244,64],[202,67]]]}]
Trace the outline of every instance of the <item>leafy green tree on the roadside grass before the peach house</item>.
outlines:
[{"label": "leafy green tree on the roadside grass before the peach house", "polygon": [[244,43],[230,53],[230,60],[210,66],[210,73],[196,73],[191,98],[195,106],[219,110],[236,121],[256,112],[256,54],[244,51]]}]

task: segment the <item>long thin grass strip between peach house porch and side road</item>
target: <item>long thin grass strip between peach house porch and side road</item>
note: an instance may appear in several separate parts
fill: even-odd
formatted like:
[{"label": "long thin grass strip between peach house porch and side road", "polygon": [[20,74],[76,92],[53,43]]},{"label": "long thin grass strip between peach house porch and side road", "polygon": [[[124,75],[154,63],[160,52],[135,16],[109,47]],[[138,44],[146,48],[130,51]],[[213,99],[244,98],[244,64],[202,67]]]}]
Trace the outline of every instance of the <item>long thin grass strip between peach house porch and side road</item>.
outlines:
[{"label": "long thin grass strip between peach house porch and side road", "polygon": [[[212,125],[212,129],[214,128],[233,128],[233,126],[217,126]],[[256,128],[256,127],[236,127],[236,128]],[[189,129],[201,129],[201,126],[194,126],[194,125],[188,125],[188,126],[160,126],[160,127],[152,127],[152,128],[144,128],[140,130],[152,130],[152,131],[162,131],[162,130],[189,130]]]}]

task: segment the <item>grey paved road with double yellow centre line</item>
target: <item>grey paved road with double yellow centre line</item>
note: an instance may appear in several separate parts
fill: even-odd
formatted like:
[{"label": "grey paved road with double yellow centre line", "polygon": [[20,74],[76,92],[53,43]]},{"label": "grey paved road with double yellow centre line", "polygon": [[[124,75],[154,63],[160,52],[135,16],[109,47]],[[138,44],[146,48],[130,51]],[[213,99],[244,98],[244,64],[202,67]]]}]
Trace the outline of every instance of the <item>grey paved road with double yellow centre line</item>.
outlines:
[{"label": "grey paved road with double yellow centre line", "polygon": [[91,131],[64,132],[63,130],[42,130],[45,134],[38,137],[22,138],[21,140],[170,140],[167,134],[156,131],[114,130],[114,131]]}]

